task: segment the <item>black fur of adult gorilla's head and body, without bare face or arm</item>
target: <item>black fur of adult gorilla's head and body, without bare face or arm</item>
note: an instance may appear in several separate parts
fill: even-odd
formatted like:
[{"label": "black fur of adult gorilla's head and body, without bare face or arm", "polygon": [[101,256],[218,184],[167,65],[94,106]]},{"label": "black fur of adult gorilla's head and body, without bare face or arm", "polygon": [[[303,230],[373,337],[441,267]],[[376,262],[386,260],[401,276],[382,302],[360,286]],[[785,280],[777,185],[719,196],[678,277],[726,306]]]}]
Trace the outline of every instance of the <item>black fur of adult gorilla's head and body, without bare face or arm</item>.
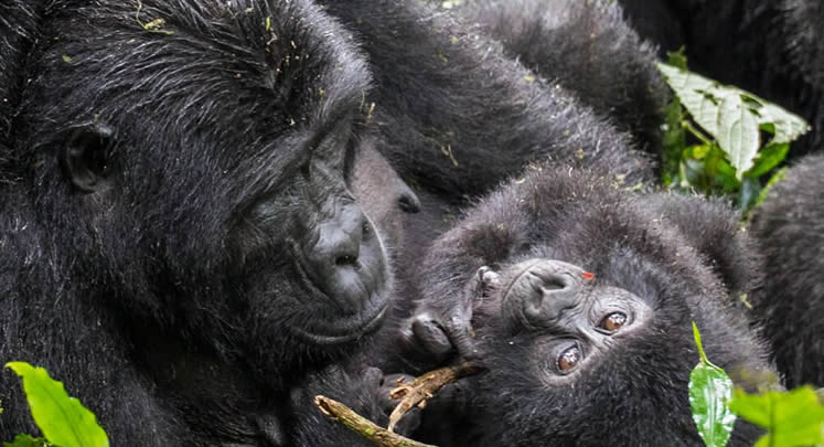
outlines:
[{"label": "black fur of adult gorilla's head and body, without bare face or arm", "polygon": [[[304,1],[0,10],[1,361],[45,366],[113,445],[281,444],[292,384],[357,345],[291,328],[362,319],[298,280],[295,246],[349,196],[320,171],[345,140],[317,137],[357,132],[334,126],[359,116],[364,58]],[[3,440],[36,434],[20,389],[0,374]]]}]

